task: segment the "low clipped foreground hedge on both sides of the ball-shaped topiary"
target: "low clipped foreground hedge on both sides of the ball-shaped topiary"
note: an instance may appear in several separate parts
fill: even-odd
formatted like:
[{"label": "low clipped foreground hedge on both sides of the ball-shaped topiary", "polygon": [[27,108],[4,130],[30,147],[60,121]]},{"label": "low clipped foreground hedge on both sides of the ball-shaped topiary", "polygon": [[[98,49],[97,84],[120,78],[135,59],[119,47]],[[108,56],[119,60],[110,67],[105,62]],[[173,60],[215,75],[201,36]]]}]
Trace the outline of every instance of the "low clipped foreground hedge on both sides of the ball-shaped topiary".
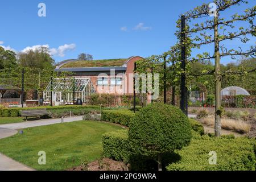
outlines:
[{"label": "low clipped foreground hedge on both sides of the ball-shaped topiary", "polygon": [[[131,170],[156,170],[156,162],[147,156],[135,155],[131,152],[127,130],[106,133],[102,137],[103,155],[106,158],[122,160],[130,163]],[[209,152],[217,152],[217,164],[209,164]],[[220,138],[208,135],[200,136],[193,131],[191,144],[174,154],[164,154],[163,166],[167,170],[215,171],[215,170],[255,170],[255,139],[246,137]]]}]

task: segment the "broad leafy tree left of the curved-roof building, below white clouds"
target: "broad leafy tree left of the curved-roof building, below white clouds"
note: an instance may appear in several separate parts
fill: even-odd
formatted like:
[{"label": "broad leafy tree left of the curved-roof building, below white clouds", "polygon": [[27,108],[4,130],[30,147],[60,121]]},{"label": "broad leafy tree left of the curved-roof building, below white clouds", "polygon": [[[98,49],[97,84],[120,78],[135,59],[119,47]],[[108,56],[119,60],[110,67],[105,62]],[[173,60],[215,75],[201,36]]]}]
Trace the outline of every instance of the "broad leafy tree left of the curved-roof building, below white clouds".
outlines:
[{"label": "broad leafy tree left of the curved-roof building, below white clouds", "polygon": [[55,61],[49,55],[49,49],[40,47],[38,49],[29,50],[18,54],[18,63],[22,67],[39,68],[39,69],[53,69]]}]

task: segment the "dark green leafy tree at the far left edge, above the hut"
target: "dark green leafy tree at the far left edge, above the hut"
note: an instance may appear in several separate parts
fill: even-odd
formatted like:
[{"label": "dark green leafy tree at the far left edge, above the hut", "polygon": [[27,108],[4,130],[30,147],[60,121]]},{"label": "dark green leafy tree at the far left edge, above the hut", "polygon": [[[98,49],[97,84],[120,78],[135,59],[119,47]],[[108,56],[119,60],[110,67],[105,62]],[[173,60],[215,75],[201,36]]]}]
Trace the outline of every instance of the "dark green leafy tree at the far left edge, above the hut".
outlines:
[{"label": "dark green leafy tree at the far left edge, above the hut", "polygon": [[17,66],[16,54],[0,46],[0,69],[15,68]]}]

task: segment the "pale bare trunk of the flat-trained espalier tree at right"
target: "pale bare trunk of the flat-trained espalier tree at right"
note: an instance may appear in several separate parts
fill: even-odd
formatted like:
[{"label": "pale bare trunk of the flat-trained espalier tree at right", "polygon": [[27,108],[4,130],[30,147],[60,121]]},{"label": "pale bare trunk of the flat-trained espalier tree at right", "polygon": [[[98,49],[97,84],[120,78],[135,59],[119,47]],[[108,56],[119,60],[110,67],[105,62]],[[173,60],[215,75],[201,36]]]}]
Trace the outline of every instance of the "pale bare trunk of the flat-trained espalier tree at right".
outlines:
[{"label": "pale bare trunk of the flat-trained espalier tree at right", "polygon": [[214,133],[216,137],[221,133],[221,73],[220,73],[220,46],[218,40],[218,13],[214,16],[214,55],[215,55],[215,121]]}]

